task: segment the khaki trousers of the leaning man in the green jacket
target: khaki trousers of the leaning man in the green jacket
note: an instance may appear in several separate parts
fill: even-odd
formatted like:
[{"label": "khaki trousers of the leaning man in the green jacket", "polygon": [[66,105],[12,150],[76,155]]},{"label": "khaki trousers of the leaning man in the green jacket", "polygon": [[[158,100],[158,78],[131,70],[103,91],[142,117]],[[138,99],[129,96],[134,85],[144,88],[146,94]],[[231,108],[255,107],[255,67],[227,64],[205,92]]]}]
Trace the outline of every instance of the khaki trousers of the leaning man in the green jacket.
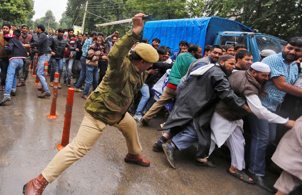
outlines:
[{"label": "khaki trousers of the leaning man in the green jacket", "polygon": [[148,112],[143,116],[145,121],[149,122],[156,115],[156,113],[158,113],[169,100],[176,97],[176,95],[176,89],[167,87],[162,96],[159,98],[159,101],[155,102],[150,110],[148,110]]}]

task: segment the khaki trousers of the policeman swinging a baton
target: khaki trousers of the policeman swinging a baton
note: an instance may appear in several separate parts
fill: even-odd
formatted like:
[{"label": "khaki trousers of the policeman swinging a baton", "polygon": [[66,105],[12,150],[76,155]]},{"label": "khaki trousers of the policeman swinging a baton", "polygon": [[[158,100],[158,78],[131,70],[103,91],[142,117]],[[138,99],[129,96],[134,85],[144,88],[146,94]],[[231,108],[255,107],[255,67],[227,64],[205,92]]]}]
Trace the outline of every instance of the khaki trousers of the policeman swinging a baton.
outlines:
[{"label": "khaki trousers of the policeman swinging a baton", "polygon": [[[87,154],[101,136],[106,126],[106,123],[93,118],[85,111],[84,119],[76,137],[64,149],[59,151],[42,171],[42,175],[46,181],[49,183],[53,182],[72,163]],[[122,132],[130,154],[139,154],[142,151],[137,134],[137,124],[129,113],[126,113],[124,119],[119,124],[113,126]]]}]

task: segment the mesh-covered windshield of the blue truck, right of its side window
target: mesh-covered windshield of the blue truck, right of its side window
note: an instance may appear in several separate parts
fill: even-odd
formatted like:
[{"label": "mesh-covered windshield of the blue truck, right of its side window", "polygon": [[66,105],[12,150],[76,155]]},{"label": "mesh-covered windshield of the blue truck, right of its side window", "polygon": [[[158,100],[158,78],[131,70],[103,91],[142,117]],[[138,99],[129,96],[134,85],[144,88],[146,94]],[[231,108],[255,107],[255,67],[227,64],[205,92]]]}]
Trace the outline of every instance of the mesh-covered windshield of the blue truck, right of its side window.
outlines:
[{"label": "mesh-covered windshield of the blue truck, right of its side window", "polygon": [[255,36],[259,55],[262,50],[273,50],[281,53],[286,42],[266,36]]}]

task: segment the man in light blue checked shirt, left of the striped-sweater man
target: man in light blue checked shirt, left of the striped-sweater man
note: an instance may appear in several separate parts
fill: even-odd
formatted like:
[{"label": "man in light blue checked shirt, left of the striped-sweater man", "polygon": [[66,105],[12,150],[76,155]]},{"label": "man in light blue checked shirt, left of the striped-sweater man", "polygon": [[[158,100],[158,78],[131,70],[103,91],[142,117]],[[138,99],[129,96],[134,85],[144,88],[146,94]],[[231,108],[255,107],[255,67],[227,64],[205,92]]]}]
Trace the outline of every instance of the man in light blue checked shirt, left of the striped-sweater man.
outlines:
[{"label": "man in light blue checked shirt, left of the striped-sweater man", "polygon": [[89,50],[89,47],[91,45],[93,45],[93,41],[95,40],[95,37],[97,35],[98,35],[97,32],[91,31],[90,32],[90,38],[85,40],[85,43],[82,47],[82,57],[80,59],[80,62],[82,64],[82,71],[81,71],[80,78],[79,78],[79,80],[76,84],[76,88],[75,88],[76,92],[82,92],[82,90],[80,89],[80,86],[83,85],[85,77],[86,77],[86,60],[88,58],[88,50]]}]

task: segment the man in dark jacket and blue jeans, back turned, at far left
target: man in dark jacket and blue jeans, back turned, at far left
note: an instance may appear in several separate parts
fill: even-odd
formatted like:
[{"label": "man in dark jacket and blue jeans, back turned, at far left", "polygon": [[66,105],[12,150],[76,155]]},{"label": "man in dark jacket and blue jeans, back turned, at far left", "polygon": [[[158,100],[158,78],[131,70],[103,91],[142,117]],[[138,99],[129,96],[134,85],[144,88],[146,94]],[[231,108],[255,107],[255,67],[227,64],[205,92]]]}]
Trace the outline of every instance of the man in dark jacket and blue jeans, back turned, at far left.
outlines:
[{"label": "man in dark jacket and blue jeans, back turned, at far left", "polygon": [[11,100],[10,94],[16,95],[17,87],[17,72],[23,66],[23,59],[26,59],[27,52],[24,49],[23,44],[19,40],[21,36],[21,30],[14,30],[13,34],[6,34],[4,39],[8,40],[8,46],[4,47],[4,51],[10,52],[8,55],[9,63],[7,69],[7,76],[5,82],[4,98],[0,102],[0,105]]}]

